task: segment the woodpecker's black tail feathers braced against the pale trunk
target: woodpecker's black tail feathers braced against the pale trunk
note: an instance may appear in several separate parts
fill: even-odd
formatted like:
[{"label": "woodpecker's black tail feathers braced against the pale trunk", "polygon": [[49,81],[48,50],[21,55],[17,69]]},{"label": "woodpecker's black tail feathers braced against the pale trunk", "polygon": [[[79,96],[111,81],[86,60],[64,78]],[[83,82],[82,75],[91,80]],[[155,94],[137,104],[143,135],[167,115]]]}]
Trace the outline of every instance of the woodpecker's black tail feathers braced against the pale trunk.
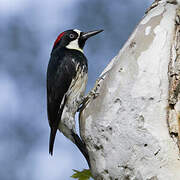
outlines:
[{"label": "woodpecker's black tail feathers braced against the pale trunk", "polygon": [[89,165],[89,168],[91,168],[91,164],[90,164],[90,160],[89,160],[89,154],[86,148],[85,143],[81,140],[81,138],[75,134],[74,132],[72,132],[72,136],[74,138],[75,144],[78,147],[78,149],[81,151],[81,153],[84,155],[84,157],[86,158],[86,161]]}]

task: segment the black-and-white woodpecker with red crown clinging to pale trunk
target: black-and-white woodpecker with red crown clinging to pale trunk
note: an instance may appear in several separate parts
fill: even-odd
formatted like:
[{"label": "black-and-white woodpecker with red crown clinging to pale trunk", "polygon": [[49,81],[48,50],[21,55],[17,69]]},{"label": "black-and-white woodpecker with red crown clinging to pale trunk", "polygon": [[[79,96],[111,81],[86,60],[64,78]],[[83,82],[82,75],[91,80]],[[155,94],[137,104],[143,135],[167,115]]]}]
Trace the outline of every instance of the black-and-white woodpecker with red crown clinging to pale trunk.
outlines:
[{"label": "black-and-white woodpecker with red crown clinging to pale trunk", "polygon": [[78,29],[70,29],[60,33],[54,42],[46,79],[51,155],[53,155],[56,133],[59,130],[76,144],[89,161],[85,143],[76,132],[75,114],[83,103],[88,79],[88,63],[83,48],[88,38],[102,31],[82,32]]}]

